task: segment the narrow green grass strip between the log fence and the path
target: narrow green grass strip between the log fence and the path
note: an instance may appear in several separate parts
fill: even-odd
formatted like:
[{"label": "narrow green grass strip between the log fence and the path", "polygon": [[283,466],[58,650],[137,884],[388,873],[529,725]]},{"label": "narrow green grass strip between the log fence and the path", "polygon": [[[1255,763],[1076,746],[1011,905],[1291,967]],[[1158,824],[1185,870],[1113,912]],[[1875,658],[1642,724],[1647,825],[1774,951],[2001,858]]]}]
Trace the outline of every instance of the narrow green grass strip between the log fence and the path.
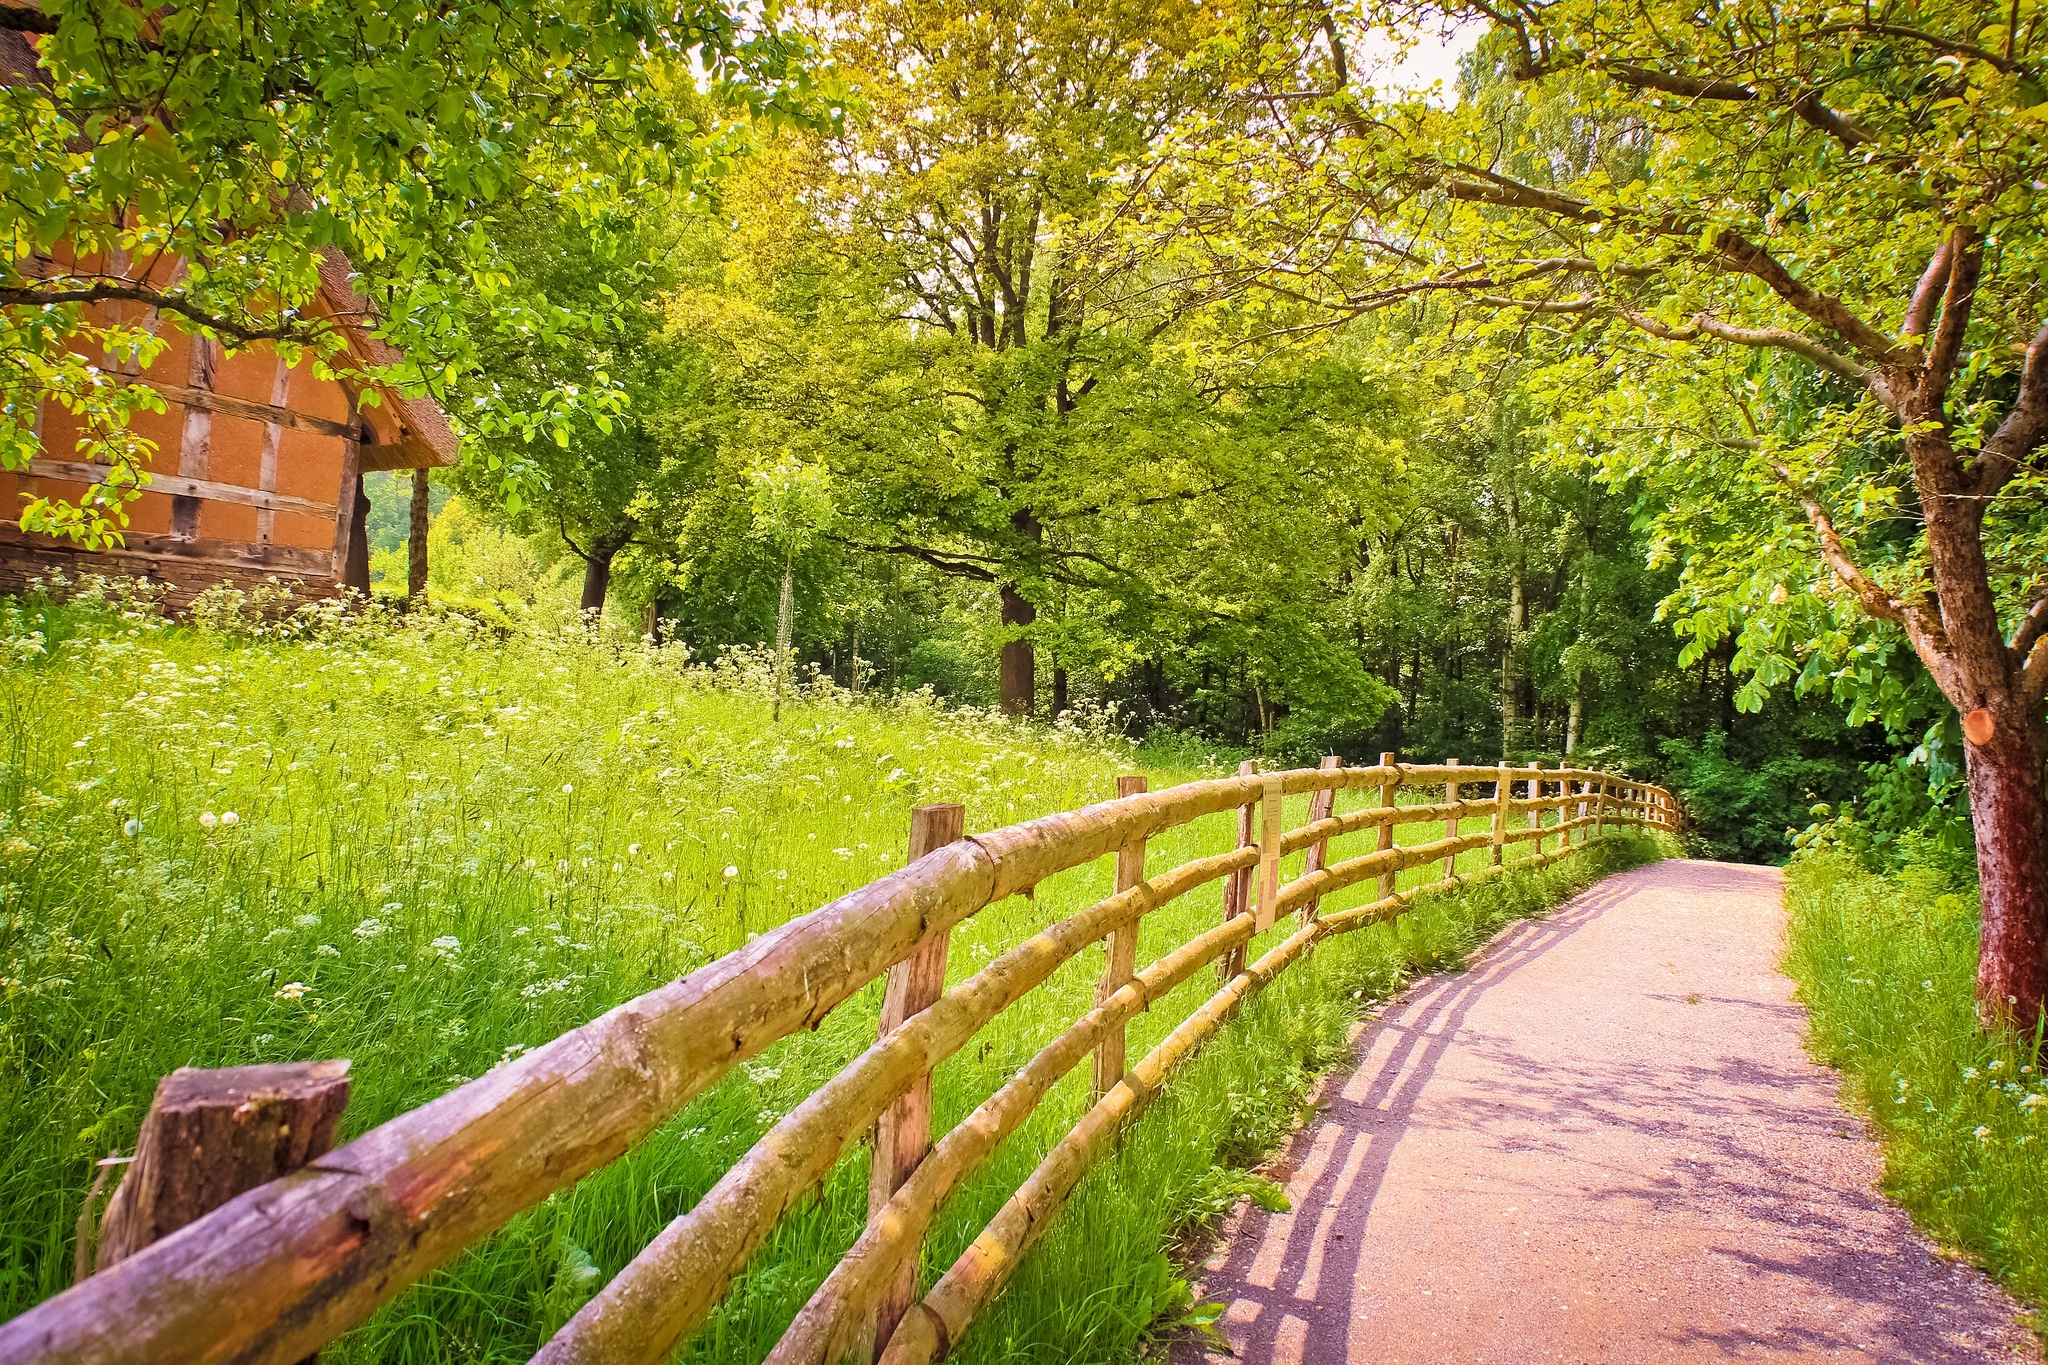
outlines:
[{"label": "narrow green grass strip between the log fence and the path", "polygon": [[[1653,837],[1608,839],[1548,868],[1419,898],[1393,925],[1321,943],[1174,1076],[1116,1156],[1081,1183],[954,1359],[1108,1365],[1149,1355],[1157,1336],[1190,1316],[1206,1320],[1192,1312],[1176,1263],[1239,1199],[1280,1199],[1251,1166],[1309,1117],[1315,1081],[1350,1056],[1352,1025],[1417,976],[1464,970],[1507,923],[1663,855]],[[961,1248],[936,1250],[944,1269]]]}]

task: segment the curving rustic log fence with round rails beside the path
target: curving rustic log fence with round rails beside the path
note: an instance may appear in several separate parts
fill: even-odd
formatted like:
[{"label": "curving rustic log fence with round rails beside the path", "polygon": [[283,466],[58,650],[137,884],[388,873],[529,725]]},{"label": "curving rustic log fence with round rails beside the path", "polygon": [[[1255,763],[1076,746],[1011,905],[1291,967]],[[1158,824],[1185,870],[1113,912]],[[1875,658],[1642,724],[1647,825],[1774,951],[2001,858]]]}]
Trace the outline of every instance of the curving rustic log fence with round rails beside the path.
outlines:
[{"label": "curving rustic log fence with round rails beside the path", "polygon": [[[1399,804],[1403,788],[1440,788],[1442,800]],[[1348,790],[1376,800],[1337,814]],[[1284,829],[1282,798],[1296,794],[1311,794],[1309,823]],[[1151,835],[1212,814],[1235,814],[1233,851],[1145,868]],[[1169,1072],[1319,941],[1393,919],[1417,892],[1542,866],[1616,827],[1675,829],[1677,819],[1667,792],[1616,774],[1403,765],[1393,755],[1376,767],[1325,759],[1321,769],[1280,774],[1247,763],[1237,778],[1161,792],[1124,778],[1116,800],[981,835],[963,835],[961,806],[922,806],[901,872],[233,1197],[0,1324],[0,1361],[303,1361],[518,1212],[623,1154],[735,1064],[815,1027],[887,974],[879,1042],[782,1117],[535,1359],[662,1361],[776,1222],[872,1132],[868,1224],[768,1359],[926,1365],[944,1359]],[[1395,845],[1397,825],[1436,821],[1442,839]],[[1483,829],[1460,833],[1475,821]],[[1333,855],[1331,841],[1368,831],[1372,851]],[[1505,849],[1520,843],[1534,849],[1507,864]],[[1458,853],[1473,849],[1491,849],[1489,866],[1456,874]],[[1282,857],[1298,851],[1303,874],[1282,880]],[[954,925],[1108,855],[1114,894],[944,988]],[[1423,866],[1444,876],[1395,888],[1399,872]],[[1217,880],[1221,923],[1141,970],[1139,921]],[[1366,882],[1376,886],[1368,905],[1319,913],[1331,892]],[[1247,964],[1253,937],[1288,915],[1292,929]],[[1098,941],[1108,954],[1096,1007],[934,1146],[932,1068]],[[1126,1021],[1210,962],[1221,988],[1126,1066]],[[920,1300],[918,1252],[946,1197],[1090,1056],[1094,1107]]]}]

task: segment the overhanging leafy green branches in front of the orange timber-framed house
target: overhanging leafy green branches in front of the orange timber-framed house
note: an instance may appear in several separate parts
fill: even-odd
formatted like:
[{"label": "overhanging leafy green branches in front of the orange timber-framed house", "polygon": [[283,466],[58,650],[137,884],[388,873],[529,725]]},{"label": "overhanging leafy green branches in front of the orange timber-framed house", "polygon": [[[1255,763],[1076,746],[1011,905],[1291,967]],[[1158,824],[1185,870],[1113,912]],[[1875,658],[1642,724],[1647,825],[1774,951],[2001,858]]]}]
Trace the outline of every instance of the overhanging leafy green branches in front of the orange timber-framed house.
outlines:
[{"label": "overhanging leafy green branches in front of the orange timber-framed house", "polygon": [[[653,98],[692,70],[764,117],[809,115],[817,94],[803,43],[715,0],[20,2],[0,6],[0,41],[37,72],[0,86],[0,460],[33,458],[45,399],[78,411],[117,475],[82,505],[31,503],[27,524],[88,544],[119,536],[147,463],[127,417],[154,399],[109,370],[160,352],[158,319],[438,393],[475,364],[477,301],[520,307],[494,213],[547,203],[578,221],[621,188],[717,170],[729,133]],[[406,360],[348,354],[311,307],[336,252]],[[575,405],[463,415],[545,430]]]}]

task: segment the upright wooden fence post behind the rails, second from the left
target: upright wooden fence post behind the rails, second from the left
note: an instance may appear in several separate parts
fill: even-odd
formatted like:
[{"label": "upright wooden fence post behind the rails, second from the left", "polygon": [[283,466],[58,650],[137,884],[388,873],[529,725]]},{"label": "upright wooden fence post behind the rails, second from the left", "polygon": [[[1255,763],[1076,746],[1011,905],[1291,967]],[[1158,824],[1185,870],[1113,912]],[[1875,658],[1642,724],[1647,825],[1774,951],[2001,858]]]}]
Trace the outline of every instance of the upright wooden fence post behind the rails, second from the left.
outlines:
[{"label": "upright wooden fence post behind the rails, second from the left", "polygon": [[[918,806],[909,812],[909,857],[918,862],[934,849],[958,841],[967,833],[967,806]],[[948,931],[950,933],[950,931]],[[911,1015],[928,1009],[946,990],[946,939],[936,933],[911,956],[889,968],[883,990],[881,1036],[887,1038]],[[932,1150],[932,1076],[926,1072],[874,1121],[874,1158],[868,1166],[868,1218],[881,1214],[889,1195],[911,1177],[924,1154]],[[889,1342],[897,1322],[918,1297],[918,1257],[905,1259],[895,1283],[874,1310],[874,1355]]]}]

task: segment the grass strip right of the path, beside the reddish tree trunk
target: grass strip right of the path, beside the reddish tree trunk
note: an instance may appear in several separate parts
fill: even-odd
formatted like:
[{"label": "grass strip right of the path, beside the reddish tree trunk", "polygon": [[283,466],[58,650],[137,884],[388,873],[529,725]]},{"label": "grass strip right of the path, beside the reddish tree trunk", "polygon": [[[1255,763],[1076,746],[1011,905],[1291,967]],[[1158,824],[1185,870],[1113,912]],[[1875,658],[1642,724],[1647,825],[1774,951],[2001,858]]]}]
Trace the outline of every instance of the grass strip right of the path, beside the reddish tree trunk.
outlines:
[{"label": "grass strip right of the path, beside the reddish tree trunk", "polygon": [[1933,868],[1792,864],[1786,968],[1812,1048],[1884,1142],[1884,1189],[1937,1242],[2048,1304],[2048,1081],[2036,1040],[1976,1027],[1976,898]]}]

